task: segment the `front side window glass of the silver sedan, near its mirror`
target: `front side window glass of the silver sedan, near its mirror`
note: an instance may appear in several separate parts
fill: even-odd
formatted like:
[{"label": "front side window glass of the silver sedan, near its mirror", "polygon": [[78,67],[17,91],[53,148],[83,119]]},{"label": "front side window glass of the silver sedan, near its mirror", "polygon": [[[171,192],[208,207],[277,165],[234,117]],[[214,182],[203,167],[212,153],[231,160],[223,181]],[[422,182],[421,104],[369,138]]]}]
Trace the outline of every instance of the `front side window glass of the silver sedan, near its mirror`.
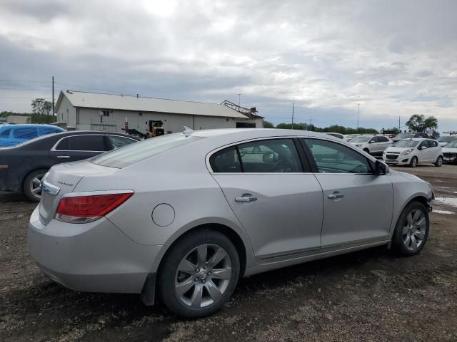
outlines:
[{"label": "front side window glass of the silver sedan, near its mirror", "polygon": [[371,167],[360,153],[328,140],[305,139],[321,173],[371,173]]}]

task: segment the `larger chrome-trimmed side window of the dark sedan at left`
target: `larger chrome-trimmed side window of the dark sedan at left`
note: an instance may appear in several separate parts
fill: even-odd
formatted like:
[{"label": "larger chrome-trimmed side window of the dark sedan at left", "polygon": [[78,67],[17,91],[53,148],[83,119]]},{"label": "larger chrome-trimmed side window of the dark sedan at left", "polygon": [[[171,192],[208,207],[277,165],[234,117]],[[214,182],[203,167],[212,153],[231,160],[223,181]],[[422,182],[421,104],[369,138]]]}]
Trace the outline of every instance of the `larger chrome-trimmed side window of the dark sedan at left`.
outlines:
[{"label": "larger chrome-trimmed side window of the dark sedan at left", "polygon": [[99,155],[109,150],[105,135],[86,134],[64,137],[52,147],[51,157],[57,162],[74,162]]}]

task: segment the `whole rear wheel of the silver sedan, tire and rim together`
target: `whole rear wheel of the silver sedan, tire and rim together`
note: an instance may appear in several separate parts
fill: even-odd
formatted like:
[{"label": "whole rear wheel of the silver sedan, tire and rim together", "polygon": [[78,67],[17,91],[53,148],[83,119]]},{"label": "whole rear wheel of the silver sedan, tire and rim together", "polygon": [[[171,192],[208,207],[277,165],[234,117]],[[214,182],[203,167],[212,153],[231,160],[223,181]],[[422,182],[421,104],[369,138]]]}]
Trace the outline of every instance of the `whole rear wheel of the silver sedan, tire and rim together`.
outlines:
[{"label": "whole rear wheel of the silver sedan, tire and rim together", "polygon": [[159,269],[159,298],[183,318],[209,316],[229,300],[239,274],[238,252],[231,241],[201,229],[170,247]]}]

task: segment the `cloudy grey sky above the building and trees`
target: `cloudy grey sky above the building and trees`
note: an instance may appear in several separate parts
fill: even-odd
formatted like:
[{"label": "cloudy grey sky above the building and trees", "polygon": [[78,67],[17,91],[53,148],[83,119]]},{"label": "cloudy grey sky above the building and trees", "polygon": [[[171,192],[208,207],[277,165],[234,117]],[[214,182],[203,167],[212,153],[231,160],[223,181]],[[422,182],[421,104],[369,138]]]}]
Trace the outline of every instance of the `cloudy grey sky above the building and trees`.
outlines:
[{"label": "cloudy grey sky above the building and trees", "polygon": [[[457,1],[1,0],[0,111],[73,89],[256,106],[273,123],[457,130]],[[58,93],[56,93],[58,95]]]}]

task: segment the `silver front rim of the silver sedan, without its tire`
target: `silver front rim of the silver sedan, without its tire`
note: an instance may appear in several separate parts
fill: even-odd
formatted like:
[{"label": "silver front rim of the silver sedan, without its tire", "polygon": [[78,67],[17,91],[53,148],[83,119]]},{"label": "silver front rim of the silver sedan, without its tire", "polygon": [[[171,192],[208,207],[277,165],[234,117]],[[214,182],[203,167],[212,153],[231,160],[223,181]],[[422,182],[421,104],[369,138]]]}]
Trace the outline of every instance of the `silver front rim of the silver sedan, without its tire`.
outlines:
[{"label": "silver front rim of the silver sedan, without its tire", "polygon": [[406,215],[403,224],[403,244],[410,251],[416,251],[426,236],[427,222],[425,214],[420,209],[413,209]]}]

